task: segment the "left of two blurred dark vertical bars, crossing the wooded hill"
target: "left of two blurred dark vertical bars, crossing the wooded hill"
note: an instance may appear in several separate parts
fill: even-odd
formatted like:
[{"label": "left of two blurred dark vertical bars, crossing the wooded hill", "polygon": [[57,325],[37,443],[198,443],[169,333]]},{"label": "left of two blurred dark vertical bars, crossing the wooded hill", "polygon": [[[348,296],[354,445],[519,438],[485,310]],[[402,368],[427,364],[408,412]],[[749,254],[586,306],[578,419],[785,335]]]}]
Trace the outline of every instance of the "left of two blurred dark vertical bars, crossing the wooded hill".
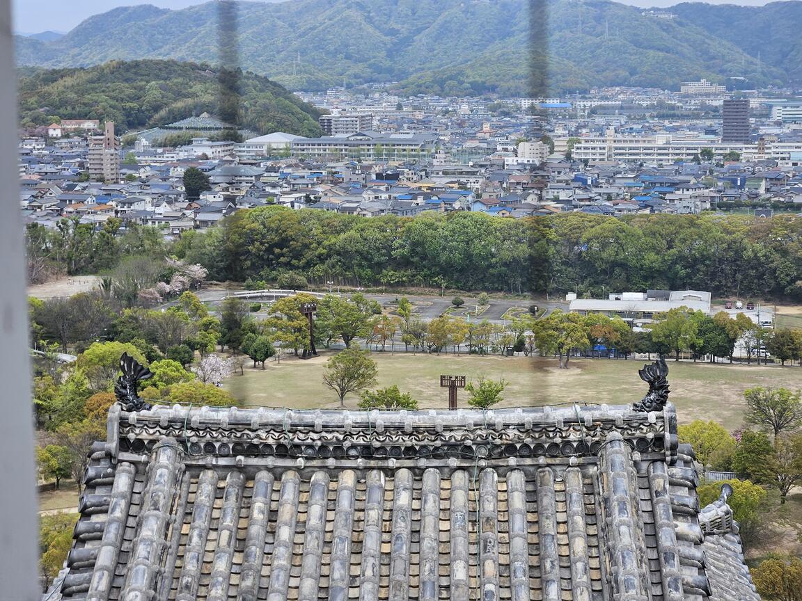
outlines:
[{"label": "left of two blurred dark vertical bars, crossing the wooded hill", "polygon": [[224,123],[240,126],[240,35],[237,2],[217,2],[217,47],[220,52],[218,113]]}]

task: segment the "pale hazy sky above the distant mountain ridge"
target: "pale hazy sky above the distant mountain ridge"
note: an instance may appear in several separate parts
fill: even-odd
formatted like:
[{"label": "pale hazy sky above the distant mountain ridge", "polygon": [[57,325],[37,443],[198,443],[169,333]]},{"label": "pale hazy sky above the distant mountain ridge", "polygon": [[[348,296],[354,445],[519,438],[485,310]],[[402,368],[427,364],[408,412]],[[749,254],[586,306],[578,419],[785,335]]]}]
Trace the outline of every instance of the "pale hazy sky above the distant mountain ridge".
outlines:
[{"label": "pale hazy sky above the distant mountain ridge", "polygon": [[[252,0],[270,2],[271,0]],[[673,6],[680,0],[619,0],[634,6]],[[748,4],[762,6],[765,0],[708,0],[712,4]],[[153,4],[163,8],[184,8],[203,0],[14,0],[14,30],[27,34],[40,31],[68,31],[93,14],[116,6]],[[273,0],[275,2],[275,0]]]}]

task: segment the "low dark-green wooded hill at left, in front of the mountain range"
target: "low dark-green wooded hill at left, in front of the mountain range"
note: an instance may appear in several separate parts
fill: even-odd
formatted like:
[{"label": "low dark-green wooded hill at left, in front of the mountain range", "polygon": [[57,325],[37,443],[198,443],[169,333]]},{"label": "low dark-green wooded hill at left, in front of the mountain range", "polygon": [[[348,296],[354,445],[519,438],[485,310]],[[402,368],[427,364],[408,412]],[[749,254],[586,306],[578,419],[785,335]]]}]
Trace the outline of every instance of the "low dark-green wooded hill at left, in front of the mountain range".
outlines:
[{"label": "low dark-green wooded hill at left, in front of the mountain range", "polygon": [[[87,68],[23,69],[19,78],[23,126],[62,119],[113,120],[118,131],[157,127],[192,115],[221,115],[220,73],[209,65],[164,60],[111,61]],[[320,135],[320,114],[262,75],[239,79],[239,115],[229,123],[263,133]],[[221,115],[223,116],[223,115]]]}]

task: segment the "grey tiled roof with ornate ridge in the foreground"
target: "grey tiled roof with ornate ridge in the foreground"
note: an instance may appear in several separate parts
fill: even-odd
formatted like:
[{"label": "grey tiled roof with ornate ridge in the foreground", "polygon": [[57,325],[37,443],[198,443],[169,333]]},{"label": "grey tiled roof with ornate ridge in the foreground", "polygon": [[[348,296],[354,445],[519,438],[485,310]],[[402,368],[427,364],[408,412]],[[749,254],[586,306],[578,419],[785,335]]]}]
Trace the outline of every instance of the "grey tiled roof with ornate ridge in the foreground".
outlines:
[{"label": "grey tiled roof with ornate ridge in the foreground", "polygon": [[707,563],[671,405],[115,406],[107,438],[49,601],[703,601],[742,559]]}]

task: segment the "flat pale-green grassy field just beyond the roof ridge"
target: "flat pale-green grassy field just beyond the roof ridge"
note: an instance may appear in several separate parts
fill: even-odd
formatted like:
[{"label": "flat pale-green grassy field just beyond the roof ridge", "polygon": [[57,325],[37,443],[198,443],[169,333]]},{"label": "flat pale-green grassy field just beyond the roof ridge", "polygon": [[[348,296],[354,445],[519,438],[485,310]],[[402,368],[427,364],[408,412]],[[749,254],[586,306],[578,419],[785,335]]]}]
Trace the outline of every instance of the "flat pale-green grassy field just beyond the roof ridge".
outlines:
[{"label": "flat pale-green grassy field just beyond the roof ridge", "polygon": [[[247,405],[293,409],[336,408],[337,397],[322,383],[322,367],[330,353],[308,361],[274,362],[266,369],[245,369],[245,376],[224,382],[237,399]],[[570,402],[619,405],[638,401],[647,386],[638,377],[643,361],[608,359],[574,360],[569,369],[558,369],[557,360],[527,357],[476,357],[410,353],[374,353],[379,363],[379,386],[399,385],[419,401],[421,409],[444,409],[448,394],[439,388],[439,375],[464,374],[503,377],[509,382],[504,402],[497,406],[537,406]],[[743,391],[751,386],[802,388],[800,367],[769,365],[709,365],[669,361],[671,400],[679,421],[711,419],[730,430],[741,425]],[[467,406],[468,393],[460,392],[460,406]],[[346,397],[355,408],[358,397]]]}]

